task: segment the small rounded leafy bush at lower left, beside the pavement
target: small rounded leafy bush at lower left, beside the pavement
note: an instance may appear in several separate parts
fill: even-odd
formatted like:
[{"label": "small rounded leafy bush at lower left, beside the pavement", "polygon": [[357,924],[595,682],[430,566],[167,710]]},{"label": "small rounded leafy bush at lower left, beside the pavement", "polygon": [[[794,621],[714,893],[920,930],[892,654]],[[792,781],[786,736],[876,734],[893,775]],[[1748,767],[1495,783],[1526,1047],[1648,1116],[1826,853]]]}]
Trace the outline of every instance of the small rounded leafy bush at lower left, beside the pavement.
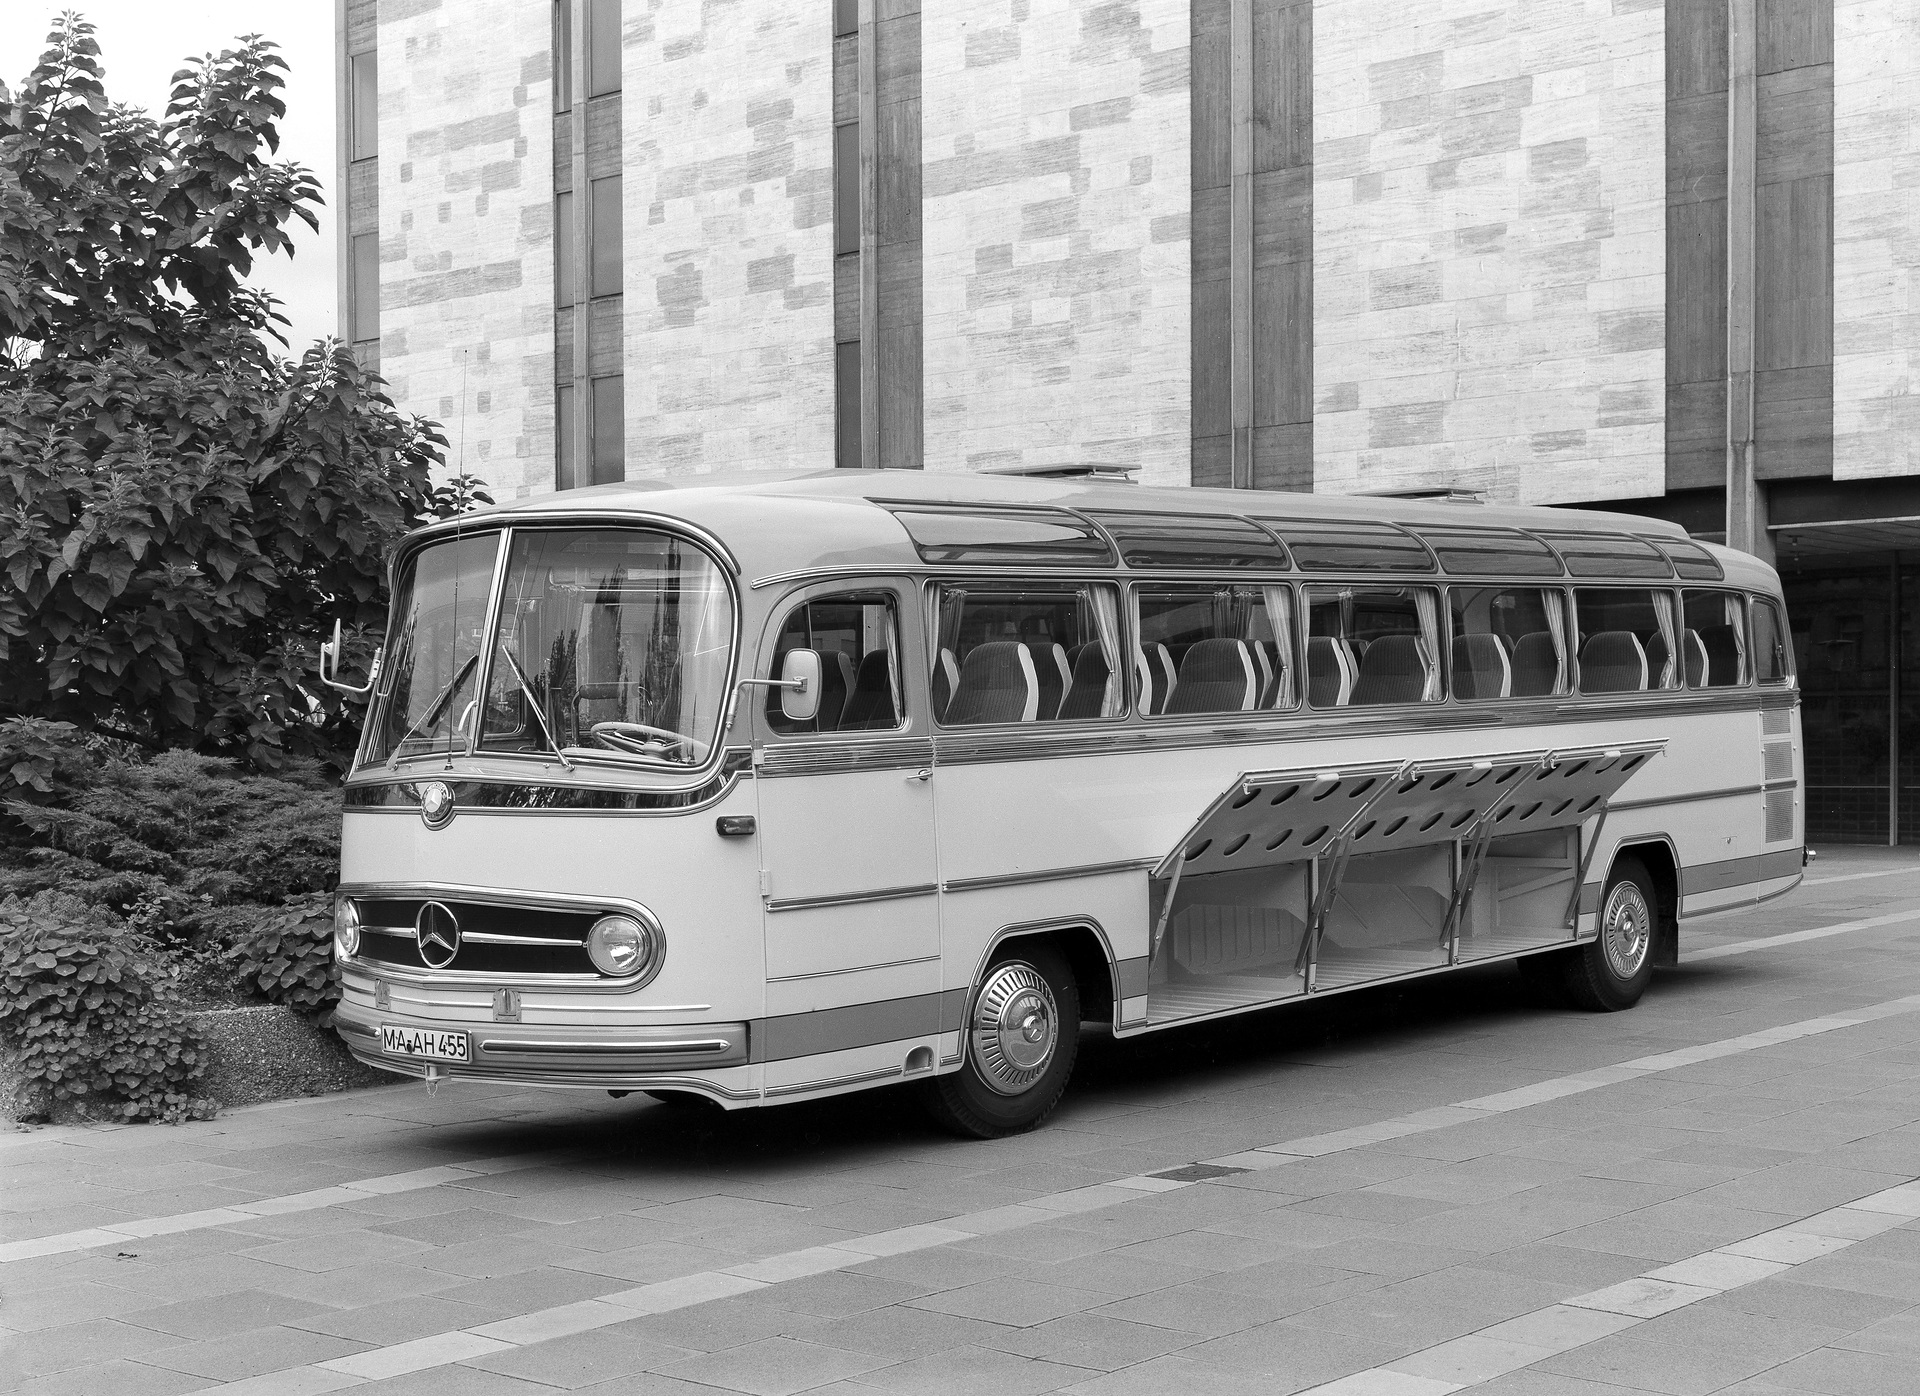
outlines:
[{"label": "small rounded leafy bush at lower left, beside the pavement", "polygon": [[207,1119],[205,1047],[157,993],[150,945],[98,906],[0,901],[0,1043],[54,1104],[121,1119]]}]

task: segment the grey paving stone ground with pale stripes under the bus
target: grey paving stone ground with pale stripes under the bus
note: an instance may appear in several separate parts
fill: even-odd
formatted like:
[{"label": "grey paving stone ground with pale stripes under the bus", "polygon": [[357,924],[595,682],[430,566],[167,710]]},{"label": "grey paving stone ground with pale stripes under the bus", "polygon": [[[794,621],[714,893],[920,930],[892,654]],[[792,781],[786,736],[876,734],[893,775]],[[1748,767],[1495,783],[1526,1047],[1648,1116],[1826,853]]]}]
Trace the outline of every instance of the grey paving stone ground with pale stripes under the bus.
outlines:
[{"label": "grey paving stone ground with pale stripes under the bus", "polygon": [[1628,1014],[1496,966],[1089,1037],[998,1143],[413,1083],[4,1133],[0,1390],[1920,1390],[1920,856],[1682,947]]}]

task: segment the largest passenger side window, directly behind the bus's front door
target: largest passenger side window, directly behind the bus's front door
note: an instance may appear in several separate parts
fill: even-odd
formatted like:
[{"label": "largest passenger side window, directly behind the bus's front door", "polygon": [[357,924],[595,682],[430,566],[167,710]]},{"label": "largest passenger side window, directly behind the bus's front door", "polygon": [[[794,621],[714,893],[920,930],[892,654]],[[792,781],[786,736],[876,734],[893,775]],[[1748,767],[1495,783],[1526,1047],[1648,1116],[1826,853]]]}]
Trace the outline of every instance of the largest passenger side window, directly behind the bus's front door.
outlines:
[{"label": "largest passenger side window, directly behind the bus's front door", "polygon": [[929,686],[950,728],[1079,722],[1127,710],[1119,595],[1106,584],[966,584],[937,591]]}]

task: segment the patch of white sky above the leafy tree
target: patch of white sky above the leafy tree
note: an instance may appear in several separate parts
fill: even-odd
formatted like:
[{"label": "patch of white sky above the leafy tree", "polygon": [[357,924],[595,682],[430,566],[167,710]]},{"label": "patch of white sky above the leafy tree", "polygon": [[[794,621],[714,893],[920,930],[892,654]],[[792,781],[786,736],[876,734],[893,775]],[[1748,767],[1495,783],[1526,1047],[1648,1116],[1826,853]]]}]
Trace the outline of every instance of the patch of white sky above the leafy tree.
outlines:
[{"label": "patch of white sky above the leafy tree", "polygon": [[315,173],[328,207],[315,209],[321,230],[292,223],[296,255],[255,257],[253,284],[278,296],[282,328],[298,353],[334,332],[334,6],[330,0],[0,0],[0,79],[19,92],[61,10],[94,23],[108,100],[167,109],[169,79],[182,60],[232,48],[240,35],[265,35],[280,46],[290,71],[280,154]]}]

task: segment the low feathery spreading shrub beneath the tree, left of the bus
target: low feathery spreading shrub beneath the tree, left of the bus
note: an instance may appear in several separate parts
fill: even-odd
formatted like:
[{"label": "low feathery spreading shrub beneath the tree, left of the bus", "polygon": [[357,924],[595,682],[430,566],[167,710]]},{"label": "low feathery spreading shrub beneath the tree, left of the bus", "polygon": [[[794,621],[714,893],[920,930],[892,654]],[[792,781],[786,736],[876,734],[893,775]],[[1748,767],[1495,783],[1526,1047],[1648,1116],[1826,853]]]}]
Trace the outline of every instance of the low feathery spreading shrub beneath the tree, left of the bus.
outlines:
[{"label": "low feathery spreading shrub beneath the tree, left of the bus", "polygon": [[15,720],[0,722],[0,772],[10,766],[33,780],[4,801],[0,897],[60,889],[140,931],[227,939],[234,908],[338,878],[340,791],[313,762],[255,776],[221,757],[142,758],[63,724]]}]

